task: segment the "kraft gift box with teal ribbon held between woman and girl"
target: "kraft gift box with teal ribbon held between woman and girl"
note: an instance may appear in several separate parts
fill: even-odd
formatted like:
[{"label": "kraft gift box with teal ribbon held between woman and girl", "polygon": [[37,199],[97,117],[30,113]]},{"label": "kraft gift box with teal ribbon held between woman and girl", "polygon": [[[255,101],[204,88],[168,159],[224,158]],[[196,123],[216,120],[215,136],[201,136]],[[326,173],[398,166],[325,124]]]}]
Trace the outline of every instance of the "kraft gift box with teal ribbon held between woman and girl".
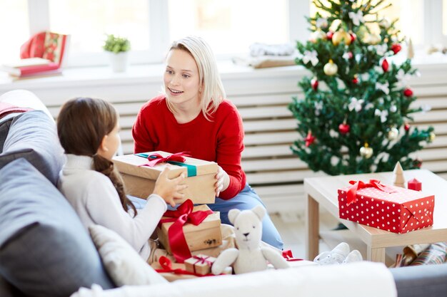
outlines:
[{"label": "kraft gift box with teal ribbon held between woman and girl", "polygon": [[179,203],[184,202],[186,199],[191,199],[194,204],[214,203],[216,199],[214,184],[216,183],[218,169],[216,162],[184,157],[185,162],[183,164],[181,164],[182,162],[173,161],[172,163],[175,164],[161,162],[154,167],[142,166],[149,162],[148,157],[154,153],[162,157],[172,155],[169,152],[156,151],[114,157],[114,164],[121,172],[128,194],[146,199],[149,194],[154,192],[157,177],[164,170],[164,167],[168,166],[171,170],[169,178],[178,177],[181,172],[184,172],[186,177],[185,183],[189,186],[187,189],[184,189],[183,194],[185,194],[185,198],[179,200]]}]

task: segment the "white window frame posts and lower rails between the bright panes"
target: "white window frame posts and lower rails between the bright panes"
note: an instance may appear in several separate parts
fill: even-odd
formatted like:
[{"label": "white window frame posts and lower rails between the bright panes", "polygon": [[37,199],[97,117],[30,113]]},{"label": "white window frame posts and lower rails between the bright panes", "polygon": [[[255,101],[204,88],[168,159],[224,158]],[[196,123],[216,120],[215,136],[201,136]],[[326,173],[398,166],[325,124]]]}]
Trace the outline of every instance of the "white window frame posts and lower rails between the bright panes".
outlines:
[{"label": "white window frame posts and lower rails between the bright panes", "polygon": [[[50,28],[49,0],[27,0],[29,33],[34,34]],[[161,63],[169,46],[168,3],[165,0],[146,0],[149,2],[149,31],[151,48],[146,51],[131,51],[131,64]],[[306,41],[308,24],[303,15],[308,15],[311,1],[288,0],[288,35],[290,42]],[[424,44],[447,44],[447,35],[442,32],[443,0],[423,1],[423,34]],[[446,9],[446,8],[444,8]],[[66,66],[104,66],[108,64],[104,53],[71,54]],[[219,60],[228,59],[228,55],[217,55]]]}]

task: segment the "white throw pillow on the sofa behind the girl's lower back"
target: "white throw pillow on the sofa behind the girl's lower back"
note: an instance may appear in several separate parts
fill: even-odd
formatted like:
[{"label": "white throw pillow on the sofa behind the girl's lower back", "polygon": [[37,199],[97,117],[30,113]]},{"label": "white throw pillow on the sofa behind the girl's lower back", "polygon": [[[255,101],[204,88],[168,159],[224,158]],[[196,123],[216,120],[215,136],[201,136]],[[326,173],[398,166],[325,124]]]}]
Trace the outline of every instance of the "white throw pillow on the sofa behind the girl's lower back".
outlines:
[{"label": "white throw pillow on the sofa behind the girl's lower back", "polygon": [[167,282],[115,231],[99,225],[90,226],[89,231],[107,272],[117,286]]}]

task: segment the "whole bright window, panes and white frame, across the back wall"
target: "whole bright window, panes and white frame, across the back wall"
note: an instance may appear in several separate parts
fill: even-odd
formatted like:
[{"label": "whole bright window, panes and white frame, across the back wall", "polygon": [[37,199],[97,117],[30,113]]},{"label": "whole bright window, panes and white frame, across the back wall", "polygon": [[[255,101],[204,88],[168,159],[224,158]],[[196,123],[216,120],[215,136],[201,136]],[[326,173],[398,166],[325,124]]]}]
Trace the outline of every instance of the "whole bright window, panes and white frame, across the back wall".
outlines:
[{"label": "whole bright window, panes and white frame, across the back wall", "polygon": [[[323,0],[322,0],[323,1]],[[447,45],[447,0],[393,0],[384,14],[415,48]],[[196,34],[217,58],[248,52],[260,43],[308,39],[304,16],[316,8],[308,0],[0,0],[0,63],[19,58],[32,33],[51,29],[71,35],[68,66],[106,65],[105,33],[130,39],[131,63],[160,63],[171,41]]]}]

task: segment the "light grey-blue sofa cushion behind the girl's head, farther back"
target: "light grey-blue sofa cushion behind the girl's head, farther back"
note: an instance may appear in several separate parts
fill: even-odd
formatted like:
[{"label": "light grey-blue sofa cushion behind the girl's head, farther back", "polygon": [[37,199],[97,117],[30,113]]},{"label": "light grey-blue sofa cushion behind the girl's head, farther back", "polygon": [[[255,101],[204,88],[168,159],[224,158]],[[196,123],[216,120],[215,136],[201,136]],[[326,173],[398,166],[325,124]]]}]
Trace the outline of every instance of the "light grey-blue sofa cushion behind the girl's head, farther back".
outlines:
[{"label": "light grey-blue sofa cushion behind the girl's head, farther back", "polygon": [[[6,132],[7,126],[1,127],[4,127],[2,132]],[[11,121],[0,154],[0,168],[21,157],[28,160],[53,184],[57,183],[59,171],[64,164],[64,152],[57,137],[54,120],[44,111],[22,113]]]}]

